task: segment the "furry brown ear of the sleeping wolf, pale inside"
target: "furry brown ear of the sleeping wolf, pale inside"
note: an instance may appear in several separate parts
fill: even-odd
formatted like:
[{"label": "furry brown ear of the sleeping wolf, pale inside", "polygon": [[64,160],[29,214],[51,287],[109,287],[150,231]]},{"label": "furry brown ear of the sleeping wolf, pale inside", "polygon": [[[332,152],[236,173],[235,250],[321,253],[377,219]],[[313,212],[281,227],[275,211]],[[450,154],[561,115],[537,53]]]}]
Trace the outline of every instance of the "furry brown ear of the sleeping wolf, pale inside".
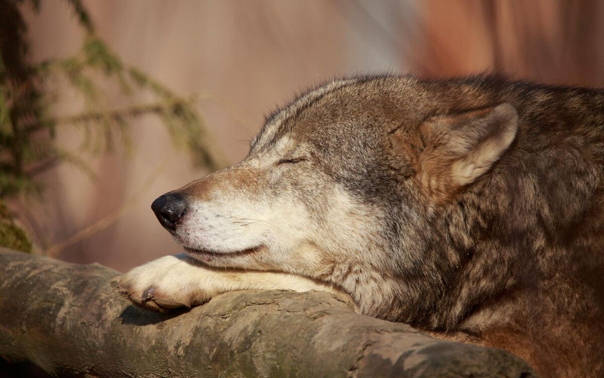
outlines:
[{"label": "furry brown ear of the sleeping wolf, pale inside", "polygon": [[518,113],[510,103],[423,122],[417,173],[428,194],[449,197],[489,171],[517,129]]}]

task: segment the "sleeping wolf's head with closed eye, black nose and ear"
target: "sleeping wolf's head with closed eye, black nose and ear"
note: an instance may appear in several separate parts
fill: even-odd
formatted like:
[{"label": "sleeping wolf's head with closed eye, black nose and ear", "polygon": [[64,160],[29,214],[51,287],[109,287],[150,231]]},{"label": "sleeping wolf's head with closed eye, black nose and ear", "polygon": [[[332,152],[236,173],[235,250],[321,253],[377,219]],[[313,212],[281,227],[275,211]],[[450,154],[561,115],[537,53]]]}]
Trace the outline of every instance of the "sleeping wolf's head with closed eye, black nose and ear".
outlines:
[{"label": "sleeping wolf's head with closed eye, black nose and ear", "polygon": [[436,220],[500,160],[517,123],[470,83],[336,80],[268,117],[243,161],[152,207],[206,264],[321,279],[400,320],[458,266],[438,250]]}]

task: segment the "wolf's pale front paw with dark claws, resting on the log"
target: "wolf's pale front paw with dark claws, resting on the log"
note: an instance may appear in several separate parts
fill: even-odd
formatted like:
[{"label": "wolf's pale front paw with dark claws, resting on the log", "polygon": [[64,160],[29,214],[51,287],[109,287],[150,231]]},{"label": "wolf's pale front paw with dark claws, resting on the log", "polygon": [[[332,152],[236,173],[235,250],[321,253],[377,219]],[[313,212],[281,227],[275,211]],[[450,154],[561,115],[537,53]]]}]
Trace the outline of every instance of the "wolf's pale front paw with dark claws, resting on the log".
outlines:
[{"label": "wolf's pale front paw with dark claws, resting on the log", "polygon": [[199,267],[179,256],[165,256],[136,267],[118,282],[121,295],[133,304],[155,311],[191,307],[207,301],[196,285]]}]

